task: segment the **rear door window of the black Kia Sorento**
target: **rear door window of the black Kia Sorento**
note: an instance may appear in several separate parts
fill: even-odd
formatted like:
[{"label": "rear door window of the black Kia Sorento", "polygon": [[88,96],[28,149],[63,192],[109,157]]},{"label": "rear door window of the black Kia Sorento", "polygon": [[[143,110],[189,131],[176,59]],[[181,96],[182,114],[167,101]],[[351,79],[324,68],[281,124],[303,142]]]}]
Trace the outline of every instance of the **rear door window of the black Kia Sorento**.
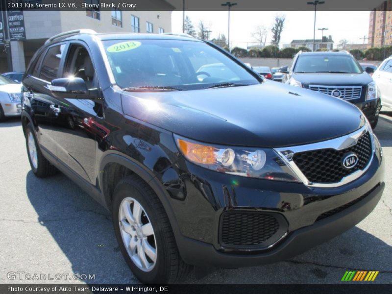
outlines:
[{"label": "rear door window of the black Kia Sorento", "polygon": [[41,66],[40,78],[51,82],[57,77],[61,56],[64,52],[65,44],[50,47],[45,55]]}]

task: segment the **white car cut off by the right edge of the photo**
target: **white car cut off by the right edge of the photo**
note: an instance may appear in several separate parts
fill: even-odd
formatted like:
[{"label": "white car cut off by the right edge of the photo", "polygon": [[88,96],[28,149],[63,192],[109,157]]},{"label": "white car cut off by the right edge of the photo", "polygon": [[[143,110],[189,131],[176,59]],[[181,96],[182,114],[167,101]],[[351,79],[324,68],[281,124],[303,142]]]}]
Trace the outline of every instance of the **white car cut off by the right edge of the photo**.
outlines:
[{"label": "white car cut off by the right edge of the photo", "polygon": [[392,108],[392,55],[381,63],[372,77],[381,92],[381,104]]}]

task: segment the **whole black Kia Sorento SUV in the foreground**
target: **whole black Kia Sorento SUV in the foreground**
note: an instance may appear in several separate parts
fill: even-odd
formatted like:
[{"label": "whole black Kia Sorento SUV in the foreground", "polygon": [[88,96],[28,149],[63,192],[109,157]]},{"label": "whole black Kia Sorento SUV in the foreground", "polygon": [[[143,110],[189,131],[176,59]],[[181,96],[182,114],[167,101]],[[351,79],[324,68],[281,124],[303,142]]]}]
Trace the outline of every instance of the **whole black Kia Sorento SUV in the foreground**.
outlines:
[{"label": "whole black Kia Sorento SUV in the foreground", "polygon": [[357,107],[266,81],[209,42],[63,33],[23,91],[32,171],[60,170],[110,210],[144,283],[290,258],[363,220],[384,189]]}]

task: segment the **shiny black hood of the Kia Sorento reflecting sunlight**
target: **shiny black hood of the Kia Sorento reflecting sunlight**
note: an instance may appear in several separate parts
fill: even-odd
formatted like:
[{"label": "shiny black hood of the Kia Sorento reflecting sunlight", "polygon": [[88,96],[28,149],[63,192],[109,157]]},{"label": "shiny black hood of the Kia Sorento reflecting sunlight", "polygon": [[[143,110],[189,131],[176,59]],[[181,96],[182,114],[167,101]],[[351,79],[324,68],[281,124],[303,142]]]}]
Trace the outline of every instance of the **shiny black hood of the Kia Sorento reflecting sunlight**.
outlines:
[{"label": "shiny black hood of the Kia Sorento reflecting sunlight", "polygon": [[265,82],[207,90],[122,93],[125,114],[197,141],[294,146],[343,136],[363,124],[349,102]]}]

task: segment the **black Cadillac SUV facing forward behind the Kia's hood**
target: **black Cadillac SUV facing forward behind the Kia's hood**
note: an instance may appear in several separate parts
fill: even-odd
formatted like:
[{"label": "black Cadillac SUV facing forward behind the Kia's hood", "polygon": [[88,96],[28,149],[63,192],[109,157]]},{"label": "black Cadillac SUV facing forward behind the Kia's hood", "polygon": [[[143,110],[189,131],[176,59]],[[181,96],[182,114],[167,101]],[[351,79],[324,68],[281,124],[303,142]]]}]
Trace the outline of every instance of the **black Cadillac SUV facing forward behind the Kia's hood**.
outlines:
[{"label": "black Cadillac SUV facing forward behind the Kia's hood", "polygon": [[380,91],[368,73],[347,51],[298,52],[288,67],[280,70],[288,73],[286,83],[350,101],[368,118],[372,128],[378,122],[381,109]]}]

